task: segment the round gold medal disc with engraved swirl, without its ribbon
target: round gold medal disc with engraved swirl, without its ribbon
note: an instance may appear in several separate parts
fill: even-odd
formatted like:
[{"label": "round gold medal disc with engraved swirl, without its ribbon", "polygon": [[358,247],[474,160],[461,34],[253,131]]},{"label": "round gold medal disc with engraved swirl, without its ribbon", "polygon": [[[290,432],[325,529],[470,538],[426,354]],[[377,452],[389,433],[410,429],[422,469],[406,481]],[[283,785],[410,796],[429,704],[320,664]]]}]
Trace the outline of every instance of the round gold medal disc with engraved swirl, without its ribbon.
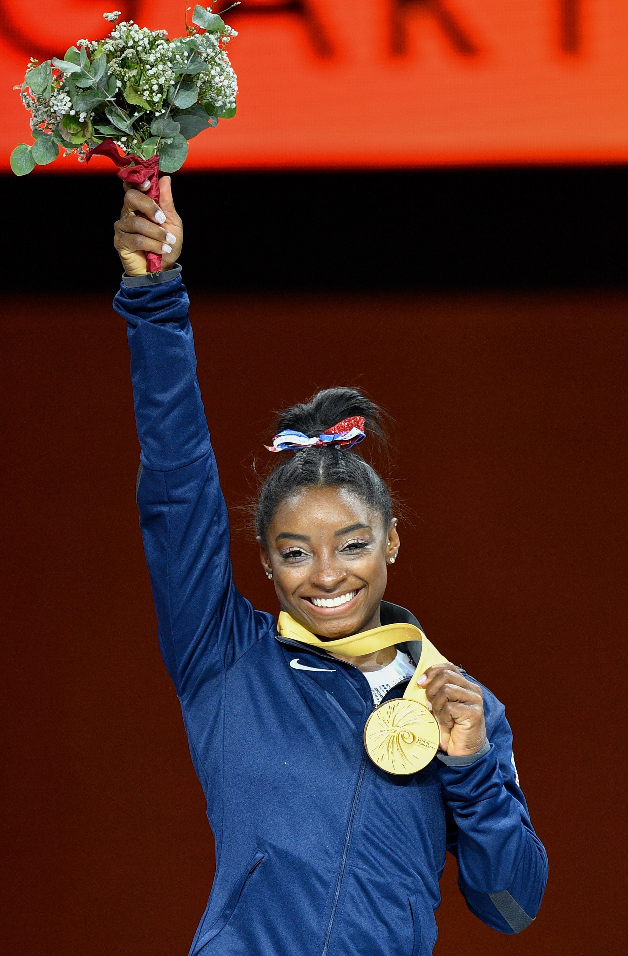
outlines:
[{"label": "round gold medal disc with engraved swirl, without its ribbon", "polygon": [[431,711],[401,698],[373,710],[366,721],[365,747],[370,759],[388,773],[416,773],[438,750],[440,733]]}]

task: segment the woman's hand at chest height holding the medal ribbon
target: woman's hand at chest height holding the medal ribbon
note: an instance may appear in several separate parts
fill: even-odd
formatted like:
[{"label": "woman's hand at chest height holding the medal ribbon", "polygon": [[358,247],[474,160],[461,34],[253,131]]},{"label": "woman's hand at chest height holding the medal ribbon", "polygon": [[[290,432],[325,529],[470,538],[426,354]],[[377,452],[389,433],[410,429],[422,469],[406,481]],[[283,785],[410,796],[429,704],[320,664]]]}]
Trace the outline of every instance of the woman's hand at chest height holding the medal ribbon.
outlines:
[{"label": "woman's hand at chest height holding the medal ribbon", "polygon": [[429,667],[418,679],[440,728],[440,748],[450,757],[466,757],[486,743],[482,688],[452,663]]}]

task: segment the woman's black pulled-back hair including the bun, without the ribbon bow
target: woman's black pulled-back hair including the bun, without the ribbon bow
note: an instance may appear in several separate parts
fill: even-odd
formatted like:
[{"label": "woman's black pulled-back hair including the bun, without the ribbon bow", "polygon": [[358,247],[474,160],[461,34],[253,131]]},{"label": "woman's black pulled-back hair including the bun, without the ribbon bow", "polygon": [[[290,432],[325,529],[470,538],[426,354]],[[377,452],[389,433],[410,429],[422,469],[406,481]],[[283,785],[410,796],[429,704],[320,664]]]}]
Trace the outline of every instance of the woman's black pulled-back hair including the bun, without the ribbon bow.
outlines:
[{"label": "woman's black pulled-back hair including the bun, without the ribbon bow", "polygon": [[[314,438],[327,428],[352,416],[362,416],[369,444],[387,452],[385,413],[357,388],[325,388],[279,416],[276,432],[285,429]],[[392,517],[392,498],[387,483],[372,465],[353,448],[337,444],[309,445],[294,452],[282,452],[282,461],[273,468],[260,489],[255,512],[256,532],[265,543],[266,530],[283,500],[304,488],[345,488],[370,508],[379,511],[385,527]]]}]

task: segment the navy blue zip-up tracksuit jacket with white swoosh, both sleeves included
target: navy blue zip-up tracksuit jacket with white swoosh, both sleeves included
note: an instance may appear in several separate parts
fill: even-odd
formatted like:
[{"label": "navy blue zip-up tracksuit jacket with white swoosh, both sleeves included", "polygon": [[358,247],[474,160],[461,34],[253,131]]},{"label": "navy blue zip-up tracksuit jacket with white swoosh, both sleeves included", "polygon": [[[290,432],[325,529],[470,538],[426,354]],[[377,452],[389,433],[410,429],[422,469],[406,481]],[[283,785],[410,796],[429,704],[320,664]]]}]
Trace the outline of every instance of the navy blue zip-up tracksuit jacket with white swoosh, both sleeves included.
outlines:
[{"label": "navy blue zip-up tracksuit jacket with white swoosh, both sleeves included", "polygon": [[[370,763],[364,675],[283,640],[234,586],[188,297],[178,271],[143,281],[115,298],[132,355],[137,502],[161,652],[216,838],[191,956],[429,956],[446,850],[472,912],[523,929],[547,860],[504,707],[484,691],[489,744],[471,758],[408,777]],[[414,620],[383,605],[383,622],[395,619]]]}]

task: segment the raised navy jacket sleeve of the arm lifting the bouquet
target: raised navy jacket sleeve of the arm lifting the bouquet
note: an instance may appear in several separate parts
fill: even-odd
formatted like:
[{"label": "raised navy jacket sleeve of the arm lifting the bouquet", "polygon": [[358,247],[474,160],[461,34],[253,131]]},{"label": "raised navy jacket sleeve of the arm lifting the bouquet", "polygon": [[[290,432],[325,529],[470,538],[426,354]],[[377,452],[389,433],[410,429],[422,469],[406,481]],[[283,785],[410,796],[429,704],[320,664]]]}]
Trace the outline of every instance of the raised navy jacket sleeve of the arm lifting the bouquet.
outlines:
[{"label": "raised navy jacket sleeve of the arm lifting the bouquet", "polygon": [[159,644],[179,698],[189,699],[270,626],[233,582],[229,525],[200,400],[189,300],[177,276],[122,285],[137,434],[137,504]]}]

